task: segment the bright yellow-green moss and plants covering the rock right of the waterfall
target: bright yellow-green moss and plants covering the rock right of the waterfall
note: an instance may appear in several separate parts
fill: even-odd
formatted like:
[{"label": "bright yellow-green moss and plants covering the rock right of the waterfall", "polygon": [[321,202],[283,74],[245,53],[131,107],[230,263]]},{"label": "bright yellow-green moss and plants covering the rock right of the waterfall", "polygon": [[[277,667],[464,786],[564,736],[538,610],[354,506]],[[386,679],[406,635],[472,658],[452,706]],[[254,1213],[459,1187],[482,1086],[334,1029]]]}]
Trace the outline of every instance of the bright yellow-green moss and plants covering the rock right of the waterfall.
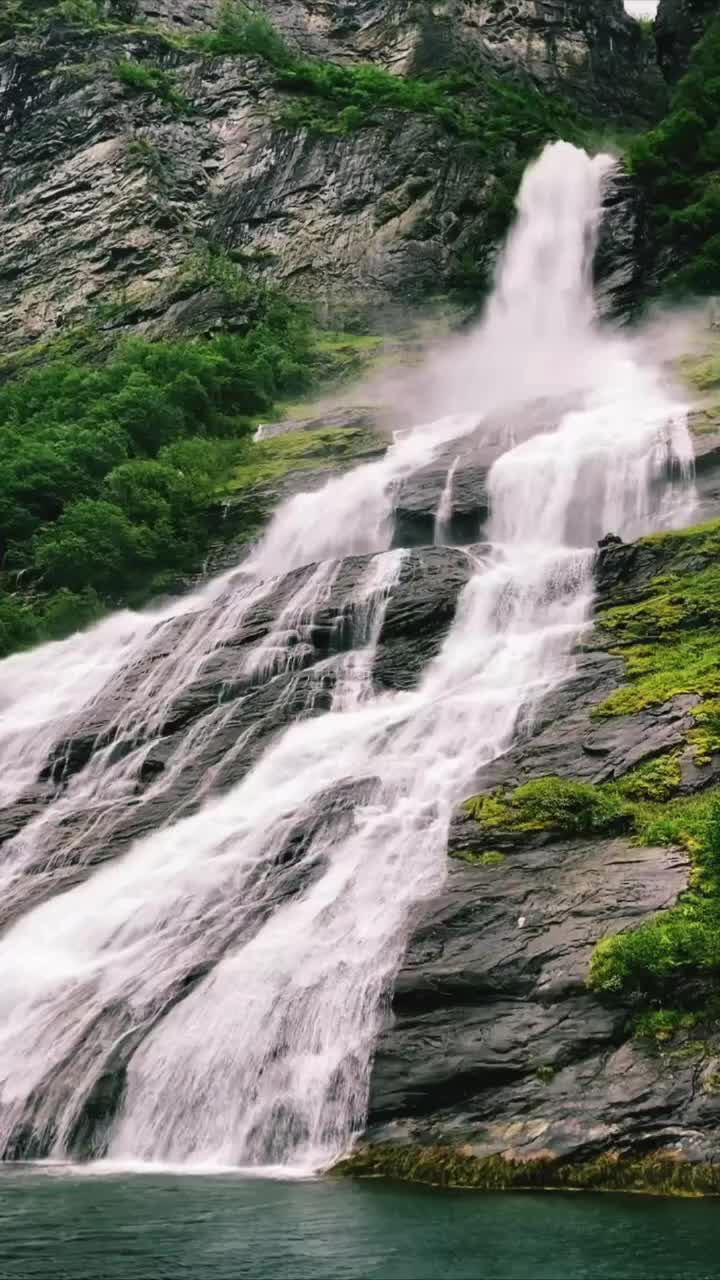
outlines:
[{"label": "bright yellow-green moss and plants covering the rock right of the waterfall", "polygon": [[[465,810],[487,832],[520,837],[551,832],[577,837],[626,832],[635,844],[676,845],[692,860],[691,887],[675,906],[639,928],[602,940],[589,986],[642,1000],[679,998],[680,978],[720,974],[720,792],[682,794],[682,758],[708,763],[720,750],[720,521],[643,539],[659,552],[659,572],[632,604],[598,616],[628,684],[598,708],[623,716],[676,694],[697,694],[682,750],[641,764],[618,782],[594,786],[537,778],[512,791],[471,797]],[[697,1000],[697,992],[688,998]]]}]

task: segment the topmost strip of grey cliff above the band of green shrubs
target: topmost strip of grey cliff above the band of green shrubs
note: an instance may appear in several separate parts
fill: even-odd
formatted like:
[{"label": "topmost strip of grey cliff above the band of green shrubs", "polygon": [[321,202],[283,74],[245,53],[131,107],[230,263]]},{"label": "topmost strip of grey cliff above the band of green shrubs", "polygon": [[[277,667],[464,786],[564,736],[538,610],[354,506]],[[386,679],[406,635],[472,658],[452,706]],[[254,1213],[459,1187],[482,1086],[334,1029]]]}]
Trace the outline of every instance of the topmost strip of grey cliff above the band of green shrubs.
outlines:
[{"label": "topmost strip of grey cliff above the band of green shrubs", "polygon": [[[128,9],[129,6],[129,9]],[[652,42],[623,0],[263,0],[259,8],[304,52],[336,61],[375,61],[400,73],[480,60],[518,70],[543,88],[618,115],[652,113],[659,77]],[[109,0],[181,31],[210,28],[215,0]],[[642,78],[642,91],[638,86]],[[644,99],[644,100],[643,100]]]}]

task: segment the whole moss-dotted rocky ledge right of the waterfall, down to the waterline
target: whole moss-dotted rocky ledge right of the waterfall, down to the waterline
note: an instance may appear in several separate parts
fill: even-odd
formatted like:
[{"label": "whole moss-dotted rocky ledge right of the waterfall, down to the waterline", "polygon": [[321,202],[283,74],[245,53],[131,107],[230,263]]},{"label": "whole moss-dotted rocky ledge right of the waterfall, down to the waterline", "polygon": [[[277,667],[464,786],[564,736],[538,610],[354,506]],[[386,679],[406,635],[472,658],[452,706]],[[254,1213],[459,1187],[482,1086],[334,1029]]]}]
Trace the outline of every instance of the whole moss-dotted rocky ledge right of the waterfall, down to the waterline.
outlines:
[{"label": "whole moss-dotted rocky ledge right of the waterfall, down to the waterline", "polygon": [[[621,796],[646,820],[712,795],[715,741],[697,739],[705,686],[691,673],[685,691],[653,700],[651,676],[633,678],[621,627],[633,618],[637,640],[634,620],[657,617],[659,600],[679,609],[694,573],[707,589],[716,529],[601,553],[597,626],[574,677],[478,774],[478,796],[455,817],[446,888],[415,923],[377,1047],[368,1130],[341,1171],[480,1188],[720,1189],[712,972],[679,945],[665,975],[619,978],[615,991],[588,983],[602,938],[685,901],[693,865],[702,879],[693,842],[664,832],[650,842]],[[706,622],[688,605],[679,632],[657,641],[656,627],[659,652]],[[644,652],[652,675],[652,645]],[[548,780],[612,797],[615,815],[594,831],[573,831],[566,814],[534,820],[514,796]]]}]

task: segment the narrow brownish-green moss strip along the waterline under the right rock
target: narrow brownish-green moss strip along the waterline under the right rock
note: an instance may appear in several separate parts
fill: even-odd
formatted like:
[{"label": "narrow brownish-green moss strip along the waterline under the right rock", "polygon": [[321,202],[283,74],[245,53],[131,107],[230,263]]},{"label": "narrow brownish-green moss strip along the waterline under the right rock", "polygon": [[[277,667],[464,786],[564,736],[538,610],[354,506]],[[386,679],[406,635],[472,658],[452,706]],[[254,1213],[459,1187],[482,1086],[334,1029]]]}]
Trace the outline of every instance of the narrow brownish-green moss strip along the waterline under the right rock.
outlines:
[{"label": "narrow brownish-green moss strip along the waterline under the right rock", "polygon": [[605,1152],[594,1160],[506,1160],[474,1156],[468,1147],[361,1147],[334,1166],[350,1178],[397,1178],[430,1187],[482,1192],[515,1189],[625,1190],[664,1196],[720,1194],[720,1166],[694,1165],[665,1152],[628,1157]]}]

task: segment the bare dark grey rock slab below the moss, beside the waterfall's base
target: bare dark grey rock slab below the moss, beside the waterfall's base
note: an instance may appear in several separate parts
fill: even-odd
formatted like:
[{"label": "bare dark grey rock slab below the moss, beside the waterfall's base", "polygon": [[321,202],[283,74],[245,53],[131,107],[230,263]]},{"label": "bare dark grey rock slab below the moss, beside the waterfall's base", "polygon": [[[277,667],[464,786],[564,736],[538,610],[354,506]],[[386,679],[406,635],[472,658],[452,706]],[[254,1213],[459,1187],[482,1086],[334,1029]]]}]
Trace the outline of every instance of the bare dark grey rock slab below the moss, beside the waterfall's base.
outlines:
[{"label": "bare dark grey rock slab below the moss, beside the waterfall's base", "polygon": [[623,840],[451,864],[398,974],[369,1137],[478,1156],[579,1160],[670,1142],[691,1153],[702,1114],[707,1158],[720,1103],[698,1096],[698,1060],[628,1041],[628,1009],[584,989],[594,943],[671,905],[685,879],[683,854]]}]

